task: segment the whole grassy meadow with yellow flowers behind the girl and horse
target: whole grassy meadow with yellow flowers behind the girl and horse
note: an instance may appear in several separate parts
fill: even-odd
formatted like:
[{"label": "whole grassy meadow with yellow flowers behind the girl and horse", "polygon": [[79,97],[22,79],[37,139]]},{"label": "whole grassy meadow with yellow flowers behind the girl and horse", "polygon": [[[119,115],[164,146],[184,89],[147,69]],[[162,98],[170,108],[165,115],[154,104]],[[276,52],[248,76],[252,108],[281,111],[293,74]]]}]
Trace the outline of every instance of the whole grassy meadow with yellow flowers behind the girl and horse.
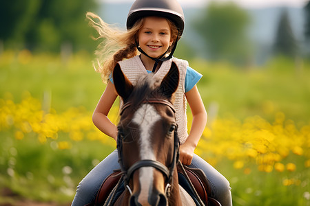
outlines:
[{"label": "whole grassy meadow with yellow flowers behind the girl and horse", "polygon": [[[70,203],[83,176],[114,150],[92,125],[104,84],[91,60],[0,54],[2,190]],[[203,73],[198,89],[209,114],[196,153],[230,181],[234,205],[310,205],[309,62],[189,63]],[[117,112],[116,103],[115,123]],[[12,201],[0,196],[0,205]]]}]

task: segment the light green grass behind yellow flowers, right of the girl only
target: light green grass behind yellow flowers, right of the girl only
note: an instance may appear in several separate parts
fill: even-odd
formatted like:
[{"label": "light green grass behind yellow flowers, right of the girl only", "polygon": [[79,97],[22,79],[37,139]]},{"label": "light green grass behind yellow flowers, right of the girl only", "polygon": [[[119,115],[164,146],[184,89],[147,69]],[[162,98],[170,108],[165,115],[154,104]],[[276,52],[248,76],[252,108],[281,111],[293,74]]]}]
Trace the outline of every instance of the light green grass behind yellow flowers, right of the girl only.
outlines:
[{"label": "light green grass behind yellow flowers, right of the girl only", "polygon": [[[192,62],[203,73],[198,89],[207,109],[218,105],[218,115],[244,119],[260,115],[269,120],[281,111],[294,121],[310,116],[310,65],[296,73],[294,66],[276,59],[265,67],[240,69],[225,63]],[[285,66],[282,66],[285,65]],[[289,68],[290,67],[290,68]]]}]

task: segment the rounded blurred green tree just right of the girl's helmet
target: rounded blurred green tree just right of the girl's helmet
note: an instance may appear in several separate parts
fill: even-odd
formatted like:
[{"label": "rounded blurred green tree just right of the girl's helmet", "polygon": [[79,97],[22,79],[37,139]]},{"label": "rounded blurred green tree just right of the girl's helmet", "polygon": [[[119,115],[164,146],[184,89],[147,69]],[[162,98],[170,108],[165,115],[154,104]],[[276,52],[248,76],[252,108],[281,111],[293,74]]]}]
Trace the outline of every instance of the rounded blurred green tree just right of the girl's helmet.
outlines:
[{"label": "rounded blurred green tree just right of the girl's helmet", "polygon": [[212,1],[194,25],[203,37],[209,58],[247,62],[251,44],[247,37],[249,14],[235,3]]}]

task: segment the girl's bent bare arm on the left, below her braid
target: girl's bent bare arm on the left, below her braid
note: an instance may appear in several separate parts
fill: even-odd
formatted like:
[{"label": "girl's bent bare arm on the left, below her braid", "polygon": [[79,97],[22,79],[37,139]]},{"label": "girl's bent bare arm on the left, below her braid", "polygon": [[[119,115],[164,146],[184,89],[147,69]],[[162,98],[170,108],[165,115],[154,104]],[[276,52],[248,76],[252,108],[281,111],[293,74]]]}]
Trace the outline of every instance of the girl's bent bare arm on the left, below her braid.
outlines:
[{"label": "girl's bent bare arm on the left, below her braid", "polygon": [[105,133],[105,135],[115,140],[117,138],[117,128],[110,119],[107,118],[107,114],[116,98],[117,93],[114,89],[114,84],[109,81],[92,115],[92,122],[94,122],[94,125],[99,128],[101,132]]}]

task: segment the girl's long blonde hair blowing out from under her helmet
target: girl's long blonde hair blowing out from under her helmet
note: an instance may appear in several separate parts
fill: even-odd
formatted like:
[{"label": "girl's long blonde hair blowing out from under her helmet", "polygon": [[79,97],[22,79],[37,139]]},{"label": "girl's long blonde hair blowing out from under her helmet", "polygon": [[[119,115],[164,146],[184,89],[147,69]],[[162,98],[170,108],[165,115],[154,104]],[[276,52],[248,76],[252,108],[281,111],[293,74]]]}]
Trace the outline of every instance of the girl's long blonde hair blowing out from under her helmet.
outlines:
[{"label": "girl's long blonde hair blowing out from under her helmet", "polygon": [[[138,31],[143,27],[144,18],[138,19],[134,26],[127,31],[105,23],[100,16],[92,12],[87,12],[86,18],[90,21],[90,26],[94,27],[99,34],[94,39],[103,38],[103,41],[99,43],[95,51],[97,58],[96,63],[93,63],[93,65],[94,69],[101,73],[103,82],[107,82],[117,62],[124,58],[132,58],[138,55],[136,40],[138,38]],[[169,19],[167,21],[172,31],[171,38],[176,39],[178,28]],[[171,48],[168,52],[171,51]]]}]

